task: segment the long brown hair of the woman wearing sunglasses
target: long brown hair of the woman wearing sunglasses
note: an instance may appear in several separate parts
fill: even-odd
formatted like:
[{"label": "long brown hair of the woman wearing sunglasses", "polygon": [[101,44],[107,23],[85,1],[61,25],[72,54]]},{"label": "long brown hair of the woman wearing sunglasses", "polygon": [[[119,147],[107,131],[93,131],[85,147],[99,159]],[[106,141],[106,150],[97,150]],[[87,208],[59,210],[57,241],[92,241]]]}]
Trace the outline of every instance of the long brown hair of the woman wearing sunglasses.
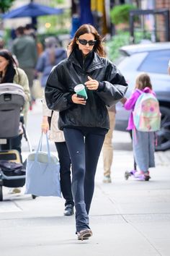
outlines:
[{"label": "long brown hair of the woman wearing sunglasses", "polygon": [[74,48],[78,47],[78,45],[76,43],[77,38],[79,38],[80,35],[89,34],[89,33],[93,34],[94,39],[97,40],[97,42],[93,48],[94,51],[97,52],[97,54],[99,54],[99,56],[104,57],[106,54],[105,54],[104,48],[102,46],[102,37],[99,35],[99,33],[97,32],[95,27],[93,27],[92,25],[89,25],[89,24],[81,25],[81,27],[79,27],[79,29],[76,31],[76,33],[73,37],[73,40],[70,43],[71,51],[73,51]]}]

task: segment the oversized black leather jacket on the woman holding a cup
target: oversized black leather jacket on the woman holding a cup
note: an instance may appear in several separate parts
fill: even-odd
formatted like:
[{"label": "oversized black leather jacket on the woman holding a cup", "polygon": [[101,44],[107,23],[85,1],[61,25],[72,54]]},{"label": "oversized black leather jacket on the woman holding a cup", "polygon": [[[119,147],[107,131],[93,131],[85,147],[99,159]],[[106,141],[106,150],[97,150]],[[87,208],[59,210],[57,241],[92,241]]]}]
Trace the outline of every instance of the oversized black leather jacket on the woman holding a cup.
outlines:
[{"label": "oversized black leather jacket on the woman holding a cup", "polygon": [[[79,51],[79,50],[76,50]],[[55,66],[45,87],[48,108],[59,111],[58,127],[101,127],[109,129],[106,106],[112,106],[125,95],[125,78],[108,59],[91,52],[83,61],[80,51],[73,51],[68,59]],[[71,101],[74,87],[88,81],[99,82],[98,90],[88,90],[86,106]]]}]

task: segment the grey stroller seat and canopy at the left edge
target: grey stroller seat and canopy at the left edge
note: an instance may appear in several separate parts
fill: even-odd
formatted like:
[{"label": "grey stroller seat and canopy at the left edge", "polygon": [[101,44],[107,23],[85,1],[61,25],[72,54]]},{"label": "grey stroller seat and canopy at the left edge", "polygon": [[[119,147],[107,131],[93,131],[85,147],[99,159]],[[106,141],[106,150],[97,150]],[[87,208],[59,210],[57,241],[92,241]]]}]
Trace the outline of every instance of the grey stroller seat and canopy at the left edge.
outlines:
[{"label": "grey stroller seat and canopy at the left edge", "polygon": [[15,137],[19,133],[19,117],[24,106],[22,86],[13,83],[0,85],[0,138]]}]

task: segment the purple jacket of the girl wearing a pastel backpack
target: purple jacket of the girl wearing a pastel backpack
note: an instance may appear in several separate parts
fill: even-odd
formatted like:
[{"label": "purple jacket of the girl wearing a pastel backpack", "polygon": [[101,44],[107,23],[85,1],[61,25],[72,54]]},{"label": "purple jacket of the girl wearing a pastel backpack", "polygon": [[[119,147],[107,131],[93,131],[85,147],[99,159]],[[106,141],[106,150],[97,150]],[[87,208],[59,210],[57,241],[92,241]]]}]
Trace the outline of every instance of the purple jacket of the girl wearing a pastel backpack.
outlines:
[{"label": "purple jacket of the girl wearing a pastel backpack", "polygon": [[131,113],[130,113],[129,121],[128,121],[128,127],[127,127],[128,130],[135,128],[135,125],[134,125],[134,122],[133,122],[133,109],[135,108],[135,103],[138,100],[138,97],[142,93],[153,93],[153,95],[155,95],[153,90],[151,90],[150,88],[146,87],[143,90],[136,89],[133,92],[133,94],[130,96],[130,98],[128,98],[128,100],[124,104],[124,108],[126,110],[130,110],[130,109],[132,110]]}]

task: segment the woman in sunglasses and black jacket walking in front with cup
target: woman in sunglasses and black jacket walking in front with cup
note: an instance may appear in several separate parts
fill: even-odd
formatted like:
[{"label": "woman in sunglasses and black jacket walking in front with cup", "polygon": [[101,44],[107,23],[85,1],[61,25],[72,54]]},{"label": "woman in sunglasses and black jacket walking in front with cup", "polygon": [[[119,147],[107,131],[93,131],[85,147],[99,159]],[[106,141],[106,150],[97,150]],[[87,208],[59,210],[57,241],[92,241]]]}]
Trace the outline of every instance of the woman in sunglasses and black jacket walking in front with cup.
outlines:
[{"label": "woman in sunglasses and black jacket walking in front with cup", "polygon": [[[48,108],[59,111],[58,127],[72,164],[76,234],[84,240],[92,235],[89,210],[99,154],[109,130],[106,106],[120,101],[128,85],[115,64],[104,58],[102,38],[93,26],[81,25],[69,47],[68,59],[50,72],[45,100]],[[74,92],[80,83],[85,85],[86,99]]]}]

